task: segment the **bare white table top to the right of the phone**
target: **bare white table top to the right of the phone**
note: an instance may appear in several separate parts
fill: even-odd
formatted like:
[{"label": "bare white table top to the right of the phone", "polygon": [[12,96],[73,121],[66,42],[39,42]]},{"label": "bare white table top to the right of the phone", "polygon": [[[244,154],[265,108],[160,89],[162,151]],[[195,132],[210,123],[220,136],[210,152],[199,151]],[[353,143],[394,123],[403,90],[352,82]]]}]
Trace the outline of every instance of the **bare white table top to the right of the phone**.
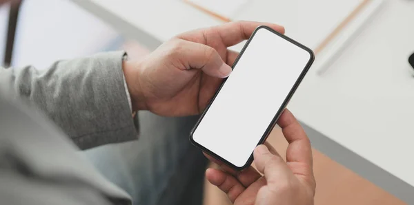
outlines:
[{"label": "bare white table top to the right of the phone", "polygon": [[290,103],[307,125],[411,186],[413,25],[413,1],[386,1],[328,72],[309,75]]}]

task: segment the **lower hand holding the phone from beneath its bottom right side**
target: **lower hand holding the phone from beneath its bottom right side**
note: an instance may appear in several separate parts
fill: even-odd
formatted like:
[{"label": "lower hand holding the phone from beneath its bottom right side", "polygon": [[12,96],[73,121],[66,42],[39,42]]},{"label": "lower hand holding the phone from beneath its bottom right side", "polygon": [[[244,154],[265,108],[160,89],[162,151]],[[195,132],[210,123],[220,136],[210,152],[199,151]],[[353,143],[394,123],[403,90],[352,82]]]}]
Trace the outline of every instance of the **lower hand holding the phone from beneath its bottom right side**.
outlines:
[{"label": "lower hand holding the phone from beneath its bottom right side", "polygon": [[277,124],[282,127],[289,142],[287,162],[273,147],[259,145],[253,155],[257,171],[264,173],[264,176],[251,166],[235,175],[218,169],[206,171],[207,180],[227,193],[234,204],[313,204],[316,182],[311,143],[288,109]]}]

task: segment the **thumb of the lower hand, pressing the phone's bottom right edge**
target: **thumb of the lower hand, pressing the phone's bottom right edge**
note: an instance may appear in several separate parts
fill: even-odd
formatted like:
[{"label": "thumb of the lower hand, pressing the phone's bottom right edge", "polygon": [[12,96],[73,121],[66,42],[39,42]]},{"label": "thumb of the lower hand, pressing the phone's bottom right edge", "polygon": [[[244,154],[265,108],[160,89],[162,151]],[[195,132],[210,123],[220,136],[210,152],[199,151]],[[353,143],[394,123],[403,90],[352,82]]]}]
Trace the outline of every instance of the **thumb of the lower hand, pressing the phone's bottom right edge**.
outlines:
[{"label": "thumb of the lower hand, pressing the phone's bottom right edge", "polygon": [[264,173],[268,183],[286,180],[293,175],[286,162],[279,155],[270,153],[265,145],[261,144],[257,146],[253,155],[255,157],[257,171]]}]

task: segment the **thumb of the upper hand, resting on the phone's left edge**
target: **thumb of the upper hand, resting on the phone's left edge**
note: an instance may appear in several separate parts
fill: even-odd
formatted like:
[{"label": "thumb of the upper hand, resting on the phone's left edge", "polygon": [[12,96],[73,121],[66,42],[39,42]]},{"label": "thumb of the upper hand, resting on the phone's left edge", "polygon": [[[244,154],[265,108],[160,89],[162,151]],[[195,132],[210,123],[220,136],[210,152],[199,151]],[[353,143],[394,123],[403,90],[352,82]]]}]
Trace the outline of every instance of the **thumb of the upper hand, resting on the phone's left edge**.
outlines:
[{"label": "thumb of the upper hand, resting on the phone's left edge", "polygon": [[224,63],[219,53],[208,45],[177,39],[175,55],[183,69],[201,69],[205,74],[217,78],[226,78],[232,69]]}]

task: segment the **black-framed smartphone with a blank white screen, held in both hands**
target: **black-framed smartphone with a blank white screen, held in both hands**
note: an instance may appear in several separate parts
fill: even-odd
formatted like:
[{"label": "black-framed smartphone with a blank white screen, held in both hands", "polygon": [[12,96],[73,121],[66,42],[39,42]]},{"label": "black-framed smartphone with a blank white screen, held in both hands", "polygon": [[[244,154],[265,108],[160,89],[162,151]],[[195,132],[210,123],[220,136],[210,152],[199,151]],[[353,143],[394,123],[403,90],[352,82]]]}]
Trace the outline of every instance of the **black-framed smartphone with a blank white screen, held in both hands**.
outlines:
[{"label": "black-framed smartphone with a blank white screen, held in both hands", "polygon": [[253,162],[295,93],[313,51],[266,26],[259,26],[233,63],[190,133],[190,142],[236,170]]}]

